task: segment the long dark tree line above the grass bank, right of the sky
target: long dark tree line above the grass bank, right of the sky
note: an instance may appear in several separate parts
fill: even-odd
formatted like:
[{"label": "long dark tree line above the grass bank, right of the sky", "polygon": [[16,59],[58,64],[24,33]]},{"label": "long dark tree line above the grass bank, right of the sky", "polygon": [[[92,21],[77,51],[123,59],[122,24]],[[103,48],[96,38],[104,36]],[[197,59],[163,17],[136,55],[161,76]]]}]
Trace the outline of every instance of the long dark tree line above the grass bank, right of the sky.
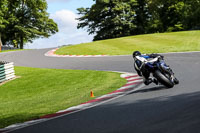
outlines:
[{"label": "long dark tree line above the grass bank, right of the sky", "polygon": [[77,28],[93,40],[200,29],[200,0],[93,0],[78,8]]}]

